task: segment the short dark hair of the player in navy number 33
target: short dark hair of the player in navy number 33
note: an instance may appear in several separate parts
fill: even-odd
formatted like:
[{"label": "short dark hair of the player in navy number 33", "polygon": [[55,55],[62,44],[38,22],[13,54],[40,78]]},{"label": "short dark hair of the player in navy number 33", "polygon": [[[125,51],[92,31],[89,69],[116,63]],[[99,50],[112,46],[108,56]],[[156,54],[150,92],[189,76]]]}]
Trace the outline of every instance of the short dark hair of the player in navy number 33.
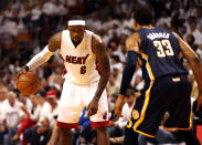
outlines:
[{"label": "short dark hair of the player in navy number 33", "polygon": [[134,12],[134,19],[140,25],[149,25],[152,24],[153,14],[150,9],[142,7]]}]

